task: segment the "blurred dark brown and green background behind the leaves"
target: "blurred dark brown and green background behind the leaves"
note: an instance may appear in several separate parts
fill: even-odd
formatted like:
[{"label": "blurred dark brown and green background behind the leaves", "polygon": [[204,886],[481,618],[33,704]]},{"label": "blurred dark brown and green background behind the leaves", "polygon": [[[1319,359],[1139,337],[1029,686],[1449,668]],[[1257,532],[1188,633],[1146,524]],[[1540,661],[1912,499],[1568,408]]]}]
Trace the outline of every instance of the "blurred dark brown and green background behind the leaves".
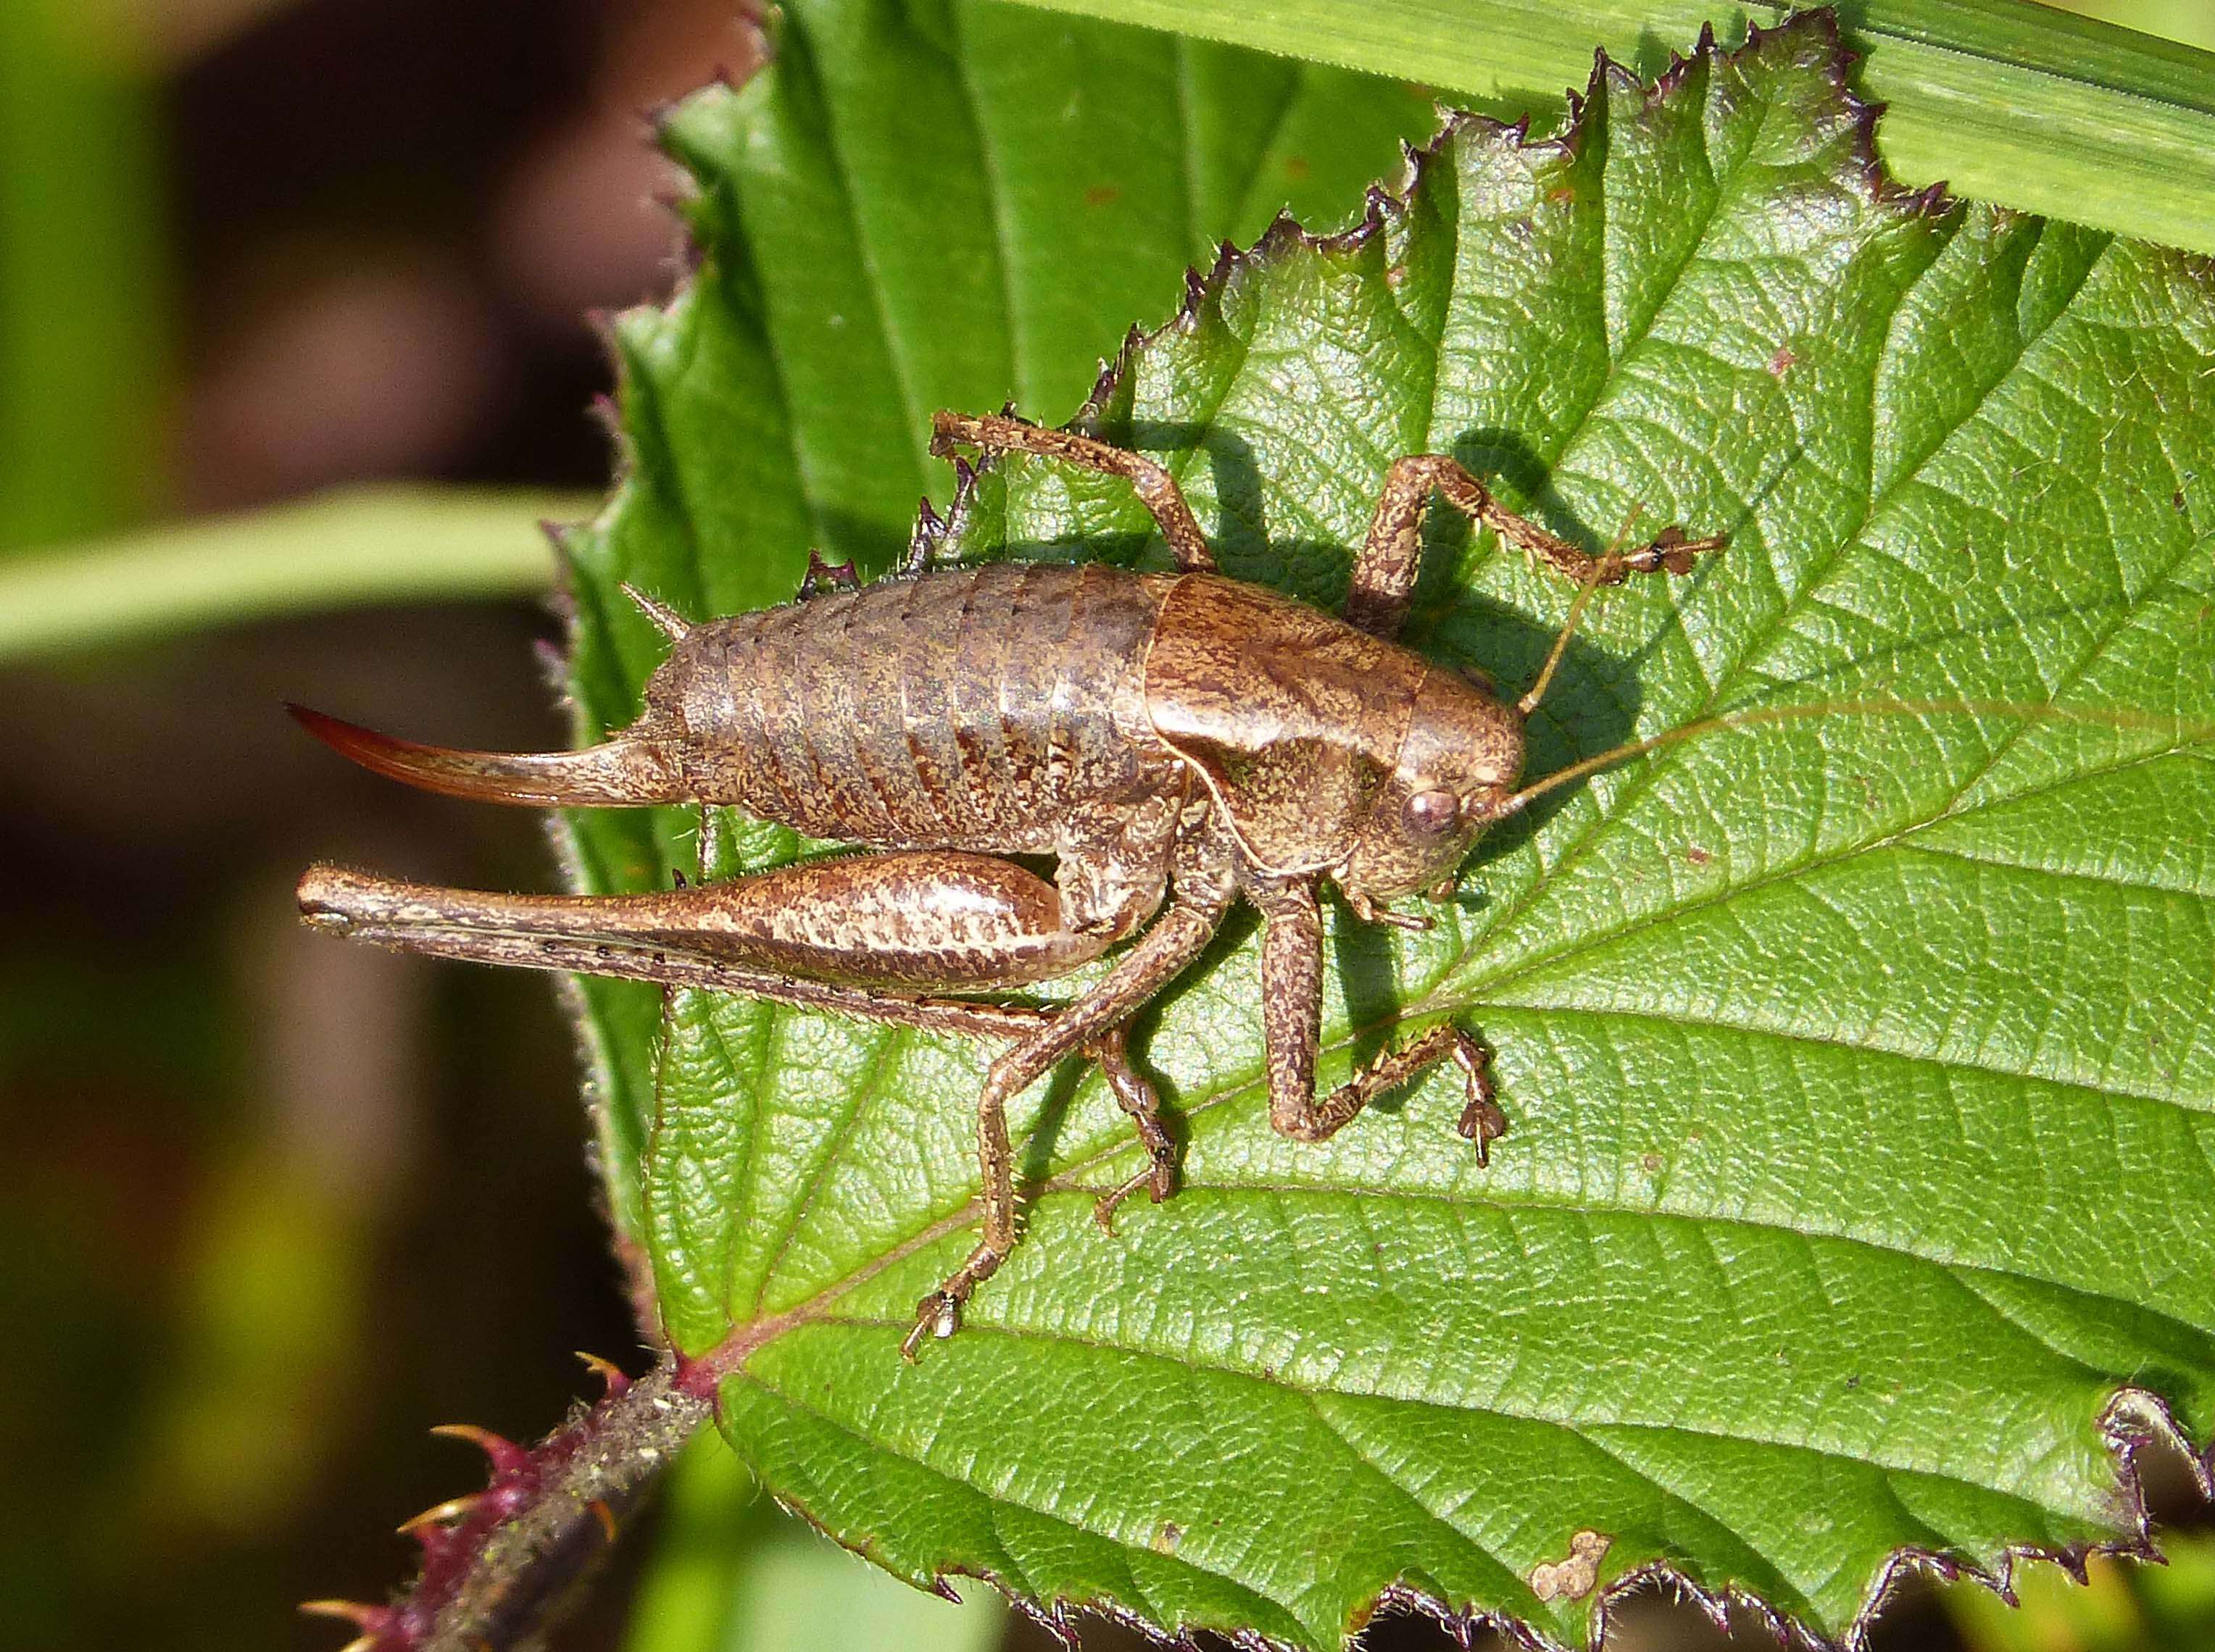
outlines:
[{"label": "blurred dark brown and green background behind the leaves", "polygon": [[[574,1349],[645,1362],[545,983],[292,923],[312,857],[543,886],[536,822],[348,771],[279,700],[563,740],[532,520],[607,481],[585,317],[680,268],[640,113],[746,71],[731,9],[0,0],[0,1648],[334,1648],[292,1603],[379,1599],[390,1528],[476,1481],[427,1424],[534,1437]],[[2082,9],[2215,47],[2215,0]],[[2166,1512],[2166,1570],[1918,1586],[1878,1645],[2215,1645],[2206,1515]],[[1050,1643],[720,1448],[656,1519],[563,1648]],[[1617,1643],[1719,1636],[1652,1599]]]}]

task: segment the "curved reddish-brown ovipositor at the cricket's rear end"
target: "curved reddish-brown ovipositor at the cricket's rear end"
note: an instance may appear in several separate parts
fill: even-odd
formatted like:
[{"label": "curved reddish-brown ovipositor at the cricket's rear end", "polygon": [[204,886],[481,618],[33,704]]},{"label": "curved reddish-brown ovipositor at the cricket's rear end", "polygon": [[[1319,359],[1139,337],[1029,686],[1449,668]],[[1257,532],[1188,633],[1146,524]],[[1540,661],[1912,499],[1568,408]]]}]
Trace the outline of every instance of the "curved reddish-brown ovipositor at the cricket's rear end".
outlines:
[{"label": "curved reddish-brown ovipositor at the cricket's rear end", "polygon": [[381,735],[308,706],[288,704],[286,711],[341,757],[447,797],[538,808],[691,802],[676,753],[638,731],[585,751],[454,751]]}]

